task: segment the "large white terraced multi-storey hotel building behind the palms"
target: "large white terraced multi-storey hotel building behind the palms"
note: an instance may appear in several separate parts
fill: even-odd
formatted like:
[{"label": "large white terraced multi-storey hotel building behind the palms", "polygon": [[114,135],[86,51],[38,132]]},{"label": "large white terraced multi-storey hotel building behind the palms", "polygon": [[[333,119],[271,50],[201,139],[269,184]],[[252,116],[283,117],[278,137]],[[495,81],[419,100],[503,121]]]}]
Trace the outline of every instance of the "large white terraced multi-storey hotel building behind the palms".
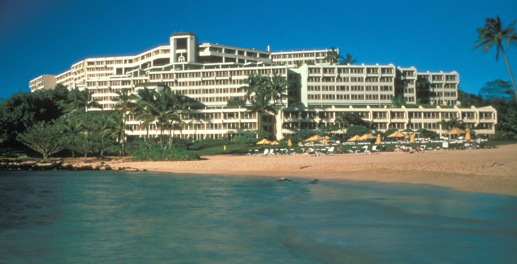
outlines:
[{"label": "large white terraced multi-storey hotel building behind the palms", "polygon": [[[113,107],[115,91],[135,92],[142,87],[170,87],[184,94],[191,107],[182,114],[185,125],[175,133],[194,139],[232,137],[257,129],[256,115],[246,109],[227,108],[227,100],[243,99],[239,90],[248,74],[282,75],[306,108],[282,108],[275,120],[264,117],[264,129],[277,138],[300,131],[317,130],[333,123],[340,112],[356,112],[379,130],[425,128],[445,133],[436,122],[461,118],[468,127],[484,127],[479,134],[493,134],[497,123],[493,107],[461,108],[457,105],[459,74],[418,72],[415,67],[389,65],[334,65],[325,61],[329,50],[270,52],[213,43],[198,43],[192,33],[175,33],[170,45],[158,46],[135,56],[87,58],[57,75],[44,74],[29,82],[31,91],[63,84],[69,89],[88,89],[103,105]],[[339,50],[338,50],[339,51]],[[314,65],[308,65],[311,61]],[[301,66],[300,66],[301,65]],[[408,106],[391,108],[391,98],[402,95]],[[290,103],[282,98],[284,105]],[[436,105],[417,107],[416,103]],[[94,110],[94,109],[92,109]],[[276,122],[274,124],[273,122]],[[133,131],[146,133],[129,117]],[[276,125],[276,130],[273,129]],[[150,134],[159,134],[150,125]]]}]

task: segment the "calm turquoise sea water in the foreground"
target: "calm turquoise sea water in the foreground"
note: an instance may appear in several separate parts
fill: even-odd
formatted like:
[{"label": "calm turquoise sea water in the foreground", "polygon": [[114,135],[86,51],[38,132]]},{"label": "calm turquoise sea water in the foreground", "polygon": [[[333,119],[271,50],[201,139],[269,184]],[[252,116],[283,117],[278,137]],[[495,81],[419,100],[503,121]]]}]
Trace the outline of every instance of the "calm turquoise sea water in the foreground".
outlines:
[{"label": "calm turquoise sea water in the foreground", "polygon": [[0,171],[2,263],[515,263],[517,197],[416,184]]}]

